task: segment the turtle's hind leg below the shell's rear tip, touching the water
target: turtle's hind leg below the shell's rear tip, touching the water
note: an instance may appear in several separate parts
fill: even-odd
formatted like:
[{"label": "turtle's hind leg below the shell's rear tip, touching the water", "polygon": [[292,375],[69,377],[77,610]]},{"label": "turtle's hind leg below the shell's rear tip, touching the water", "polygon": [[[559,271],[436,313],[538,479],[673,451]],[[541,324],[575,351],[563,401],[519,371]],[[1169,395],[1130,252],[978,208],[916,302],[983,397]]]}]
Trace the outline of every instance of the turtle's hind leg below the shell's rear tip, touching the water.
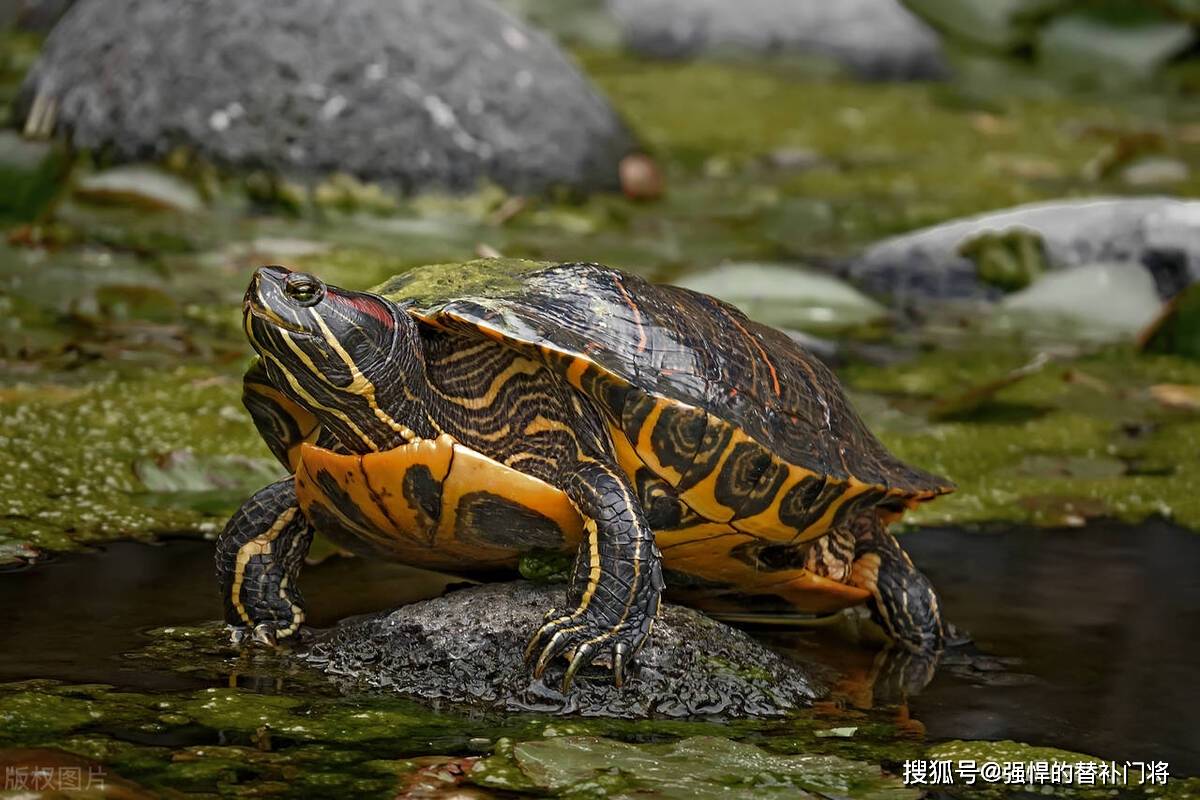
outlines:
[{"label": "turtle's hind leg below the shell's rear tip, touching the water", "polygon": [[850,582],[871,593],[871,618],[907,650],[941,651],[942,613],[929,578],[913,566],[877,512],[862,515],[850,527],[854,535]]}]

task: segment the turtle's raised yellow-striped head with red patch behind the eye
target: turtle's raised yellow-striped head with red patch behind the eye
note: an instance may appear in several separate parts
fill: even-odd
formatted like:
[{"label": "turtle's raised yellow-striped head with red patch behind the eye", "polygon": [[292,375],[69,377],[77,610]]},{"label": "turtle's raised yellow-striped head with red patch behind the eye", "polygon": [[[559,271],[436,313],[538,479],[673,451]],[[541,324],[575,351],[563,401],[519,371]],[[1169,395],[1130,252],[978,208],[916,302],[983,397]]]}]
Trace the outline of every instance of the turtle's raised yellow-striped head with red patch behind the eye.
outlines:
[{"label": "turtle's raised yellow-striped head with red patch behind the eye", "polygon": [[263,266],[242,303],[242,324],[271,383],[354,452],[385,450],[414,434],[425,373],[416,324],[378,295],[328,285],[306,272]]}]

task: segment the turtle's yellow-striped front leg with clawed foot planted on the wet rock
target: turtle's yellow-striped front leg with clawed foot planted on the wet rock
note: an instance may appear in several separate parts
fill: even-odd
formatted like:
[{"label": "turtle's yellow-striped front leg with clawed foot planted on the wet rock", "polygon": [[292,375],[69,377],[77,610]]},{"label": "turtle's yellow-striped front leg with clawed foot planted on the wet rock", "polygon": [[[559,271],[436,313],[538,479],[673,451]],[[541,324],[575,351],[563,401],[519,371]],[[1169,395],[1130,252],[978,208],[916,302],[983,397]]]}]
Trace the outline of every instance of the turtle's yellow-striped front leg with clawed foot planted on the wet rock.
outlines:
[{"label": "turtle's yellow-striped front leg with clawed foot planted on the wet rock", "polygon": [[586,462],[571,476],[566,493],[584,518],[572,582],[577,607],[541,626],[526,657],[540,678],[557,656],[569,654],[563,691],[582,667],[607,655],[620,686],[625,667],[649,636],[662,594],[661,555],[629,482],[601,462]]}]

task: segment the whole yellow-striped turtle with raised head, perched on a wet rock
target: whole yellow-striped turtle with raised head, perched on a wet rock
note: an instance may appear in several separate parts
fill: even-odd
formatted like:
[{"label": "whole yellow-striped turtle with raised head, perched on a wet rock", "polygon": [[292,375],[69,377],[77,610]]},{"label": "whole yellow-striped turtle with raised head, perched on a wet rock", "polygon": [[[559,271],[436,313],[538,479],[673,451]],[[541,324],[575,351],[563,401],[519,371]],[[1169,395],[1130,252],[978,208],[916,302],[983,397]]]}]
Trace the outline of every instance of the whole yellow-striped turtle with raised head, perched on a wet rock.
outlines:
[{"label": "whole yellow-striped turtle with raised head, perched on a wet rock", "polygon": [[[893,456],[838,379],[715,297],[592,263],[418,267],[371,291],[259,267],[244,402],[288,477],[217,540],[240,642],[301,630],[314,531],[466,577],[574,554],[527,658],[619,686],[664,590],[726,614],[859,606],[940,650],[937,595],[888,531],[946,479]],[[480,610],[487,613],[486,609]]]}]

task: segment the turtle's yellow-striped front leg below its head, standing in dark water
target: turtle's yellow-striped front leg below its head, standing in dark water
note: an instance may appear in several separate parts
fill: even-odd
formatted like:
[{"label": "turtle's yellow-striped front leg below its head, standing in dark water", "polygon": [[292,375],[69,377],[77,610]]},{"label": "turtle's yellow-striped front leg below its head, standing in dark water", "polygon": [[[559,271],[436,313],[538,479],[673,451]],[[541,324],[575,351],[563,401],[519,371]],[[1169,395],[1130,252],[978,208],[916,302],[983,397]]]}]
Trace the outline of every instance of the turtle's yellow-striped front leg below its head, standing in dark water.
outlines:
[{"label": "turtle's yellow-striped front leg below its head, standing in dark water", "polygon": [[260,489],[217,537],[217,579],[235,643],[263,644],[293,636],[304,622],[296,576],[312,543],[312,525],[287,477]]}]

